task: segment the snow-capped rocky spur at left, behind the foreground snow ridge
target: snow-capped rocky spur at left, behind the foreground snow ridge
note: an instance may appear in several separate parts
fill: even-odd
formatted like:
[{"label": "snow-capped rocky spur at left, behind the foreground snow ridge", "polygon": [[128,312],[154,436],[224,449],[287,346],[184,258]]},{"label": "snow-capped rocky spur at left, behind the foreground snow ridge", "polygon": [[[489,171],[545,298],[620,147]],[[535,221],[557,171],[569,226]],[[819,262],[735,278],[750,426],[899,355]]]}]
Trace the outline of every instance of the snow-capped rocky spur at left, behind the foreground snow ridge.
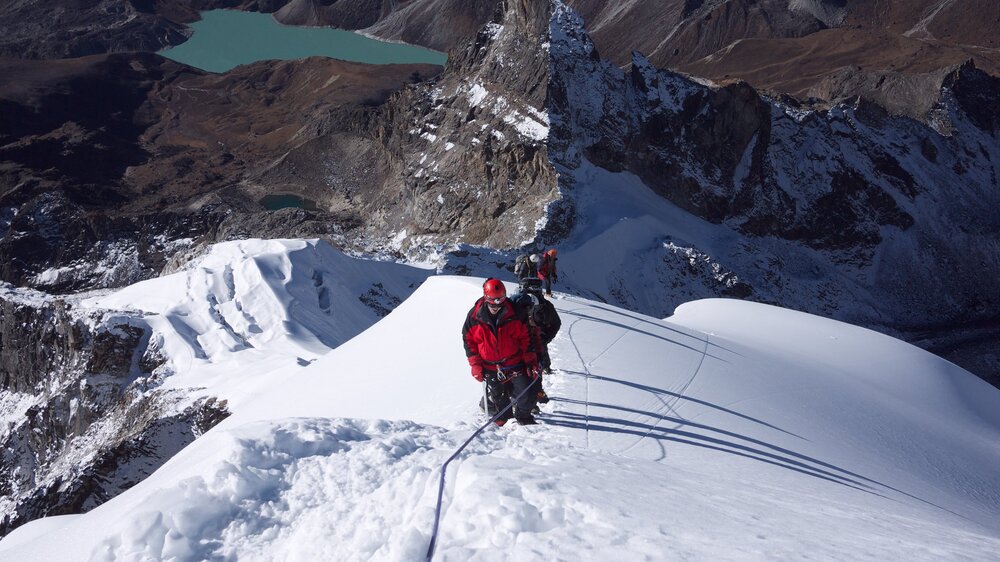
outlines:
[{"label": "snow-capped rocky spur at left, behind the foreground snow ridge", "polygon": [[134,485],[430,274],[317,240],[244,240],[98,297],[0,287],[0,529]]}]

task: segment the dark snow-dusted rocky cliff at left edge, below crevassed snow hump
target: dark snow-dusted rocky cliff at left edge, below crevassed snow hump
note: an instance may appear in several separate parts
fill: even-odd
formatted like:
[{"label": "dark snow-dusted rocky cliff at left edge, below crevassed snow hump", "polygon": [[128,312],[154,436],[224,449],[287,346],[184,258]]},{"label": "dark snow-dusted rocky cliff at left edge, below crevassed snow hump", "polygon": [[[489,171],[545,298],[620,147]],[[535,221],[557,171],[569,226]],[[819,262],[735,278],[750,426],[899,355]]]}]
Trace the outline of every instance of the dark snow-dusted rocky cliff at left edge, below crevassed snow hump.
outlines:
[{"label": "dark snow-dusted rocky cliff at left edge, below crevassed snow hump", "polygon": [[139,482],[226,417],[224,403],[158,391],[141,320],[0,295],[0,534],[80,513]]}]

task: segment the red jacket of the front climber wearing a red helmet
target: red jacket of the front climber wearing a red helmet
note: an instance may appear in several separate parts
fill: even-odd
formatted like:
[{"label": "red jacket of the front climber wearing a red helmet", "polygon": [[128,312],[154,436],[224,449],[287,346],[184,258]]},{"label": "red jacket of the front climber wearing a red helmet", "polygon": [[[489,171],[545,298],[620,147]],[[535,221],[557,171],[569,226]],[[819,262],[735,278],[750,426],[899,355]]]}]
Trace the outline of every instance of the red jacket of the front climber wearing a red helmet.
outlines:
[{"label": "red jacket of the front climber wearing a red helmet", "polygon": [[532,339],[528,326],[517,318],[509,300],[504,301],[503,308],[494,318],[480,298],[466,315],[462,326],[462,340],[469,365],[479,365],[486,371],[496,371],[497,365],[535,365],[537,360]]}]

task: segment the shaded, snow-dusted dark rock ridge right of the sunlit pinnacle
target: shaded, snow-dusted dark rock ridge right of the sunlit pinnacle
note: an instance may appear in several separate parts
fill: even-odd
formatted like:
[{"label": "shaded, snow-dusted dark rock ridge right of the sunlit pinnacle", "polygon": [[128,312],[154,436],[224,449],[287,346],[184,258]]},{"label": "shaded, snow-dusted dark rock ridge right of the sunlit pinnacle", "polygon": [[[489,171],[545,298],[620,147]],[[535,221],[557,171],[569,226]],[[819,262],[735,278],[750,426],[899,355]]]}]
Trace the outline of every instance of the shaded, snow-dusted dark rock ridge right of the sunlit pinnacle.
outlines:
[{"label": "shaded, snow-dusted dark rock ridge right of the sunlit pinnacle", "polygon": [[652,282],[672,284],[677,300],[644,302],[625,276],[590,290],[665,316],[735,290],[735,278],[754,300],[946,354],[995,330],[1000,298],[986,280],[1000,273],[996,78],[973,65],[943,74],[926,125],[868,99],[815,111],[744,83],[709,88],[638,54],[622,71],[564,8],[550,33],[549,154],[568,204],[574,191],[598,188],[581,185],[578,170],[629,172],[730,240],[714,250],[665,243],[664,264],[695,255],[713,264],[705,288],[657,269]]}]

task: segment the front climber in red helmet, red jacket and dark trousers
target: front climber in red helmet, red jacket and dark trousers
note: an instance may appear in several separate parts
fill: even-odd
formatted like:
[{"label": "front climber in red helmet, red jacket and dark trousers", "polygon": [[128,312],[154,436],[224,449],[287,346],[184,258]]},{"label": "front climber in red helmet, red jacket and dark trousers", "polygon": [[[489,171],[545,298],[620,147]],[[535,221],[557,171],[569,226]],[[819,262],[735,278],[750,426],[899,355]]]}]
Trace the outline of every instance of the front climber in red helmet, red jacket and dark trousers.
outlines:
[{"label": "front climber in red helmet, red jacket and dark trousers", "polygon": [[531,389],[538,382],[540,369],[533,338],[499,279],[483,283],[483,296],[469,310],[462,326],[462,341],[472,377],[486,381],[486,413],[503,412],[497,425],[504,425],[511,417],[521,425],[536,423],[531,415],[536,392]]}]

